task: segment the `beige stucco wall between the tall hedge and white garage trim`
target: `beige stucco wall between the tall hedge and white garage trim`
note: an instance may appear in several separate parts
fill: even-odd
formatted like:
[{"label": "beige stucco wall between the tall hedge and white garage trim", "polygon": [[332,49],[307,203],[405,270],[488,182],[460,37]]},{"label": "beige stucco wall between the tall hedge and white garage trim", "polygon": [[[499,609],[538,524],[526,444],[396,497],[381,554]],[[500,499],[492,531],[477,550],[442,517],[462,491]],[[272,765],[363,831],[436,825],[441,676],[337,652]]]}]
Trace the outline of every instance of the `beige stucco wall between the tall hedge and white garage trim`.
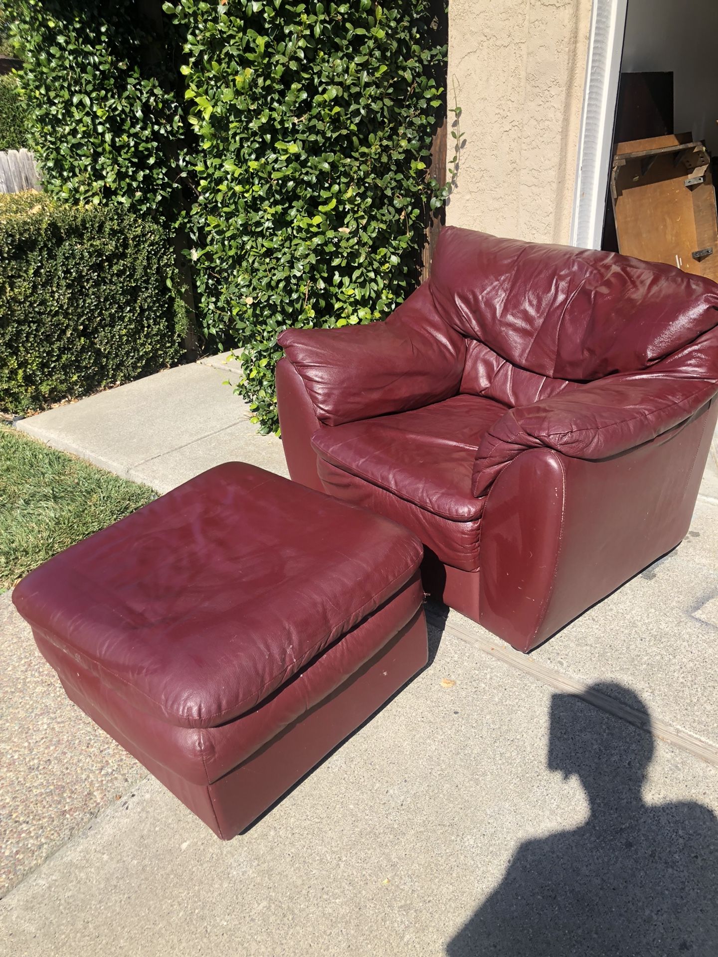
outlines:
[{"label": "beige stucco wall between the tall hedge and white garage trim", "polygon": [[465,145],[447,223],[569,241],[590,18],[591,0],[450,0]]}]

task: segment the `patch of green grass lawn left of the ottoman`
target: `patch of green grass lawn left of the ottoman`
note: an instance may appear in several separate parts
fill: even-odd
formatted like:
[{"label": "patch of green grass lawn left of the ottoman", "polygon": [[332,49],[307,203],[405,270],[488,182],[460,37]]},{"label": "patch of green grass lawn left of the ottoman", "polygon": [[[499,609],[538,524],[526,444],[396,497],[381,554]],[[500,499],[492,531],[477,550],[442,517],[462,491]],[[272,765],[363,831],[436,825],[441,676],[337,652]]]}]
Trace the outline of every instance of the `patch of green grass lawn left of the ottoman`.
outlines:
[{"label": "patch of green grass lawn left of the ottoman", "polygon": [[0,425],[0,591],[154,498],[146,485]]}]

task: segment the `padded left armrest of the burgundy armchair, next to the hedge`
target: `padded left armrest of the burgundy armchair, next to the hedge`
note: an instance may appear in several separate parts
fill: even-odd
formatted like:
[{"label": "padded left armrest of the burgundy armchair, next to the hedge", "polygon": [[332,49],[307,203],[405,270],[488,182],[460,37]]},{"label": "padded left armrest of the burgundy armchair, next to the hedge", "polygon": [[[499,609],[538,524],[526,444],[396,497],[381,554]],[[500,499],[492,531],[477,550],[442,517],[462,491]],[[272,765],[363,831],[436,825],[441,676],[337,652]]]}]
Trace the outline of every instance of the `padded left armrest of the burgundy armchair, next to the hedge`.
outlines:
[{"label": "padded left armrest of the burgundy armchair, next to the hedge", "polygon": [[466,345],[438,315],[428,283],[383,323],[285,329],[278,339],[317,418],[341,425],[455,395]]}]

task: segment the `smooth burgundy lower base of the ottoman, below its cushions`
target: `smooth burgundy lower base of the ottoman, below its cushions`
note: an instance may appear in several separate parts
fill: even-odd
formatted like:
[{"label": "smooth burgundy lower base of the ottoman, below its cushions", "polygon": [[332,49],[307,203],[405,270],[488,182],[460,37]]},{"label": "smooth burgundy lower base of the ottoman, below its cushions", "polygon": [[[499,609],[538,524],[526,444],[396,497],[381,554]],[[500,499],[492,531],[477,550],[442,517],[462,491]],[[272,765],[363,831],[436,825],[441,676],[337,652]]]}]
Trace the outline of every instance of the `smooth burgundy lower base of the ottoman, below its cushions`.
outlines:
[{"label": "smooth burgundy lower base of the ottoman, below its cushions", "polygon": [[84,699],[79,689],[62,680],[67,696],[95,723],[140,761],[192,812],[229,840],[249,827],[389,701],[427,662],[423,608],[381,650],[335,691],[284,728],[237,768],[210,785],[193,784],[155,761]]}]

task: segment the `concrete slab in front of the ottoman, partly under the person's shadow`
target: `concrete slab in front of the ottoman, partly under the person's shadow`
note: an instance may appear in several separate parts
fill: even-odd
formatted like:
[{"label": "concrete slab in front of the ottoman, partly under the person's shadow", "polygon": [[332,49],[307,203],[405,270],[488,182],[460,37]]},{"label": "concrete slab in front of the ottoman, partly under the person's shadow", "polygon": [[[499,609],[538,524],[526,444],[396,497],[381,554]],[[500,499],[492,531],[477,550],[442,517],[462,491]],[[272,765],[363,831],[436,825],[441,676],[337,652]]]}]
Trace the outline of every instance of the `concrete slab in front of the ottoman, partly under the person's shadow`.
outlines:
[{"label": "concrete slab in front of the ottoman, partly under the person's shadow", "polygon": [[[683,931],[682,898],[716,886],[718,772],[656,742],[629,824],[623,795],[650,738],[581,702],[551,722],[552,701],[444,634],[429,669],[233,841],[147,778],[8,896],[0,953],[575,957],[561,940],[572,924],[623,934],[592,954],[678,953],[665,941]],[[587,761],[608,808],[590,868],[575,864],[586,795],[561,773]],[[679,873],[663,874],[671,857]],[[646,895],[631,920],[626,880]],[[502,938],[512,922],[523,947]]]}]

